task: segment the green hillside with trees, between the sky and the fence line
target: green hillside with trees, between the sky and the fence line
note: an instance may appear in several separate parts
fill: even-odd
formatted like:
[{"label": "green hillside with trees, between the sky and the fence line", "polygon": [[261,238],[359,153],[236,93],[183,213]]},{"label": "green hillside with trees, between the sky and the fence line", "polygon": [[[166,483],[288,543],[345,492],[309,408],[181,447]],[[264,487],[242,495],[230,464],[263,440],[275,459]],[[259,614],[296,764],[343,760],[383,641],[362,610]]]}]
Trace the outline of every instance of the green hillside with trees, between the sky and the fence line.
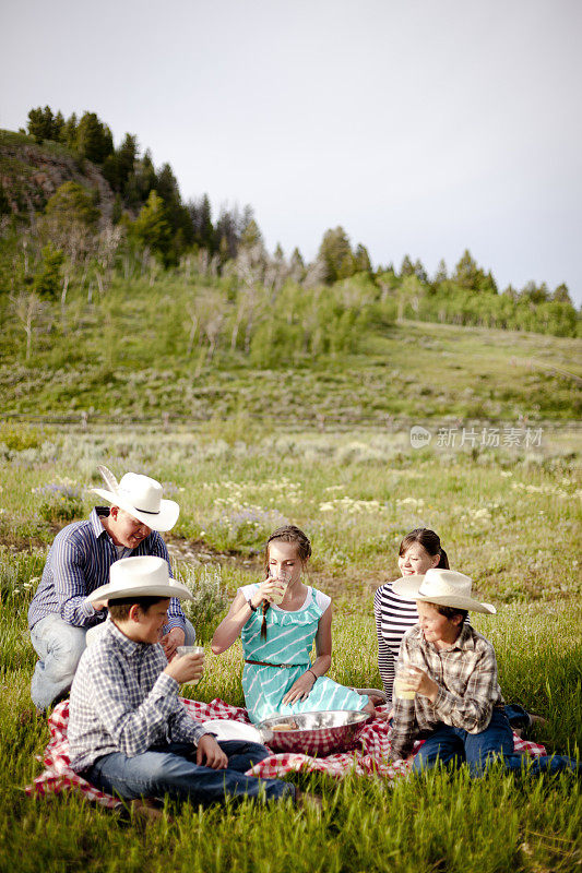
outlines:
[{"label": "green hillside with trees, between the sky and the fence line", "polygon": [[[328,230],[264,247],[247,207],[182,203],[136,136],[32,110],[0,131],[0,403],[66,420],[390,428],[580,418],[582,321],[565,285],[499,292],[466,251],[429,277],[372,268]],[[535,333],[534,333],[535,332]],[[242,423],[240,423],[242,422]]]}]

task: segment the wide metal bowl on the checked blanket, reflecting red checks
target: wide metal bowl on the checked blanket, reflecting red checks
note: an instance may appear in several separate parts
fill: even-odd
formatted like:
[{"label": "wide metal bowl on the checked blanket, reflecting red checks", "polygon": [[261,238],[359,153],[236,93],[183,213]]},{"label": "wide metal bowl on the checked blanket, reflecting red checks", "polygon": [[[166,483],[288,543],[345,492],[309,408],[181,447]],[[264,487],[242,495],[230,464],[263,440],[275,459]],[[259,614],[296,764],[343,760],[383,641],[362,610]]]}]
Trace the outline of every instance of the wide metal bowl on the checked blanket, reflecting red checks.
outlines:
[{"label": "wide metal bowl on the checked blanket, reflecting red checks", "polygon": [[[369,713],[352,709],[300,713],[265,718],[258,728],[263,743],[275,752],[329,755],[357,746],[359,734],[369,717]],[[292,730],[274,730],[280,725],[294,727]]]}]

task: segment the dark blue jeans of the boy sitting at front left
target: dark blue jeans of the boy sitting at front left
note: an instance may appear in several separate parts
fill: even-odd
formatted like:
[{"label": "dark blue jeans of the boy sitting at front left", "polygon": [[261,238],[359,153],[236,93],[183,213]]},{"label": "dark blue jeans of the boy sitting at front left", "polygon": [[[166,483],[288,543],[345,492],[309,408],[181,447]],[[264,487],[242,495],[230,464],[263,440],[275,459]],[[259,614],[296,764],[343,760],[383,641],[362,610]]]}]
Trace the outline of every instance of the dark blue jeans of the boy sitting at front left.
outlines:
[{"label": "dark blue jeans of the boy sitting at front left", "polygon": [[218,745],[228,756],[224,770],[198,765],[191,743],[168,743],[133,757],[111,752],[81,775],[102,791],[123,800],[168,794],[177,801],[207,805],[224,803],[229,798],[258,798],[263,791],[266,801],[295,798],[295,787],[289,782],[245,776],[246,770],[270,754],[264,745],[241,740]]}]

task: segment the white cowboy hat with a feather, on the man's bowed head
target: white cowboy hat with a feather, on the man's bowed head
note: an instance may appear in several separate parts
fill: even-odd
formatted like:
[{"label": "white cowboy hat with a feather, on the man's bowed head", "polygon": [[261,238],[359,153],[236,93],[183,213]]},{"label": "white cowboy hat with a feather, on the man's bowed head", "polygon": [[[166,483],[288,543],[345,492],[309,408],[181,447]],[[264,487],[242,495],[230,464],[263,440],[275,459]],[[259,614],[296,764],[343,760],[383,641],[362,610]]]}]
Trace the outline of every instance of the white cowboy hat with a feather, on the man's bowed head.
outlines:
[{"label": "white cowboy hat with a feather, on the man's bowed head", "polygon": [[109,490],[92,488],[92,491],[112,506],[120,506],[129,512],[152,530],[171,530],[178,521],[180,507],[174,500],[162,500],[163,489],[159,482],[139,473],[126,473],[118,483],[107,467],[99,464],[97,469],[109,486]]}]

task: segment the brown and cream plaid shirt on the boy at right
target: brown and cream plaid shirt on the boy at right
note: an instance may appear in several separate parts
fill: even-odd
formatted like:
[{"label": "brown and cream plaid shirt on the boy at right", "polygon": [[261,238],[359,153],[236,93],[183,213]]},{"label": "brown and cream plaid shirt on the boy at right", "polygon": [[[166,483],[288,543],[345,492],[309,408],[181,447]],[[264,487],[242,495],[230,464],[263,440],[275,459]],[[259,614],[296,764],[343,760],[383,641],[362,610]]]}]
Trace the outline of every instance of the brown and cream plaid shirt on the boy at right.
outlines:
[{"label": "brown and cream plaid shirt on the boy at right", "polygon": [[437,699],[416,694],[413,701],[394,699],[392,754],[406,757],[414,741],[444,722],[467,733],[479,733],[491,720],[494,706],[502,706],[492,645],[467,624],[455,642],[438,649],[425,641],[419,625],[403,637],[396,670],[419,667],[439,685]]}]

